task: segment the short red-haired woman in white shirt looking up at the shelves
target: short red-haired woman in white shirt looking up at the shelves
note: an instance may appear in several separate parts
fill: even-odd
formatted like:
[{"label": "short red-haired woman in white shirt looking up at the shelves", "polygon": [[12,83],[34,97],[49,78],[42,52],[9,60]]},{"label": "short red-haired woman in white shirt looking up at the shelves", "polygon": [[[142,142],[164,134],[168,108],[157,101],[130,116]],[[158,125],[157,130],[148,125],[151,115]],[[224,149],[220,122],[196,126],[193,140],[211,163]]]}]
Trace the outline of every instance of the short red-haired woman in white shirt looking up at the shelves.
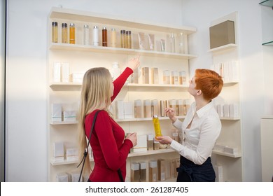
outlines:
[{"label": "short red-haired woman in white shirt looking up at the shelves", "polygon": [[174,109],[165,112],[179,130],[181,143],[171,137],[157,137],[160,144],[170,144],[180,156],[177,181],[215,181],[211,165],[211,152],[221,132],[221,121],[212,99],[220,94],[223,87],[221,76],[209,69],[196,69],[190,79],[188,92],[195,98],[183,123],[174,114]]}]

